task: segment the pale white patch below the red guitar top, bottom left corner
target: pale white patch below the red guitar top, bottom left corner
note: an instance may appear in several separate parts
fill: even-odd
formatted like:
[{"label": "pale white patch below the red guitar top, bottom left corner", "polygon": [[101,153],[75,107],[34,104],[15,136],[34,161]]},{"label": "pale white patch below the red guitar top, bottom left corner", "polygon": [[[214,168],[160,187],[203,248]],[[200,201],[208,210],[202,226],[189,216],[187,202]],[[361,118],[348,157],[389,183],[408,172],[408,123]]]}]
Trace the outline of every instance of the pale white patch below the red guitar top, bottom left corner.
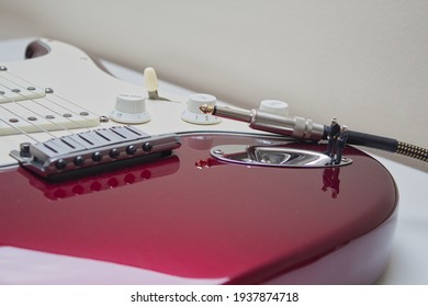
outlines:
[{"label": "pale white patch below the red guitar top, bottom left corner", "polygon": [[226,282],[222,278],[184,278],[106,261],[12,247],[0,247],[0,268],[2,285],[201,285]]}]

